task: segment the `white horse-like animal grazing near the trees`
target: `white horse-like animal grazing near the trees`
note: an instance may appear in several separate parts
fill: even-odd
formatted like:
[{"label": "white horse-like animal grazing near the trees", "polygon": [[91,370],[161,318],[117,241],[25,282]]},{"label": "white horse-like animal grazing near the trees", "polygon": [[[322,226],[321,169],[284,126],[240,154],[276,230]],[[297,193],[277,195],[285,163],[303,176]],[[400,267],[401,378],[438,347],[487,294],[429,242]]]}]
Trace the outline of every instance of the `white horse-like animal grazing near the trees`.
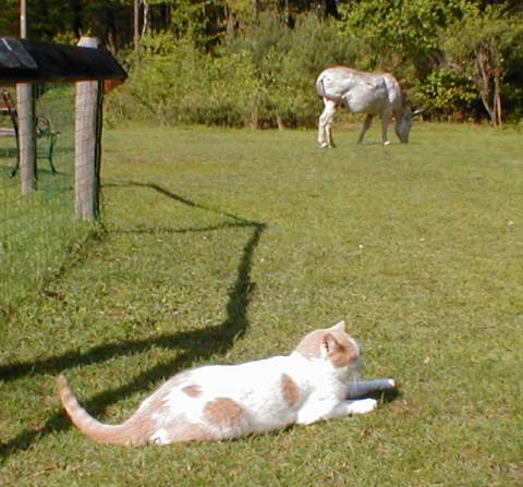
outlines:
[{"label": "white horse-like animal grazing near the trees", "polygon": [[323,71],[316,80],[316,90],[324,99],[325,109],[319,118],[318,143],[320,147],[336,147],[331,126],[338,105],[344,105],[350,112],[366,113],[357,143],[363,142],[373,118],[381,117],[381,138],[389,145],[387,127],[396,118],[394,131],[402,143],[409,142],[414,113],[403,107],[403,96],[398,81],[388,73],[367,73],[351,68],[336,66]]}]

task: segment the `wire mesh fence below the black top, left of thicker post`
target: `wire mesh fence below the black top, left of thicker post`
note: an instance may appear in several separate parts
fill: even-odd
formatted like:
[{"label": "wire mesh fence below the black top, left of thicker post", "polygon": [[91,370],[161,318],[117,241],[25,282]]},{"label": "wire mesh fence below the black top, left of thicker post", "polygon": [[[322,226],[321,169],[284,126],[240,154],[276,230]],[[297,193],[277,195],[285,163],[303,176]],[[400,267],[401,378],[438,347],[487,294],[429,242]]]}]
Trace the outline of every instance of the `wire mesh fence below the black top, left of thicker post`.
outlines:
[{"label": "wire mesh fence below the black top, left of thicker post", "polygon": [[[14,107],[15,89],[0,86],[0,90]],[[13,120],[4,108],[0,117],[0,309],[4,313],[34,292],[46,292],[46,283],[93,228],[75,219],[75,87],[45,84],[34,85],[33,90],[37,168],[35,191],[27,194],[21,191],[13,126],[23,121]]]}]

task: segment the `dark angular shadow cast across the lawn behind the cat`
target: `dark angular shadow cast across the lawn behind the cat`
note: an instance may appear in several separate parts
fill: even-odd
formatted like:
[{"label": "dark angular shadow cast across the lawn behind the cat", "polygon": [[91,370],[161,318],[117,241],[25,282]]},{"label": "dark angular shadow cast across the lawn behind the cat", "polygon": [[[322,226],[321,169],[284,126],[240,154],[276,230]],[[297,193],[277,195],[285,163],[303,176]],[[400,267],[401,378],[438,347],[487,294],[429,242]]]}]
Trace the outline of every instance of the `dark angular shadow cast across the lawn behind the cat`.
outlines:
[{"label": "dark angular shadow cast across the lawn behind the cat", "polygon": [[[181,369],[191,367],[195,361],[205,360],[217,353],[224,354],[229,349],[231,349],[231,346],[234,344],[234,341],[245,333],[248,327],[247,307],[250,303],[250,294],[254,288],[254,283],[251,281],[252,260],[254,251],[258,245],[262,233],[266,228],[265,223],[250,221],[231,214],[198,205],[190,199],[171,193],[161,186],[158,186],[157,184],[124,183],[113,185],[147,187],[184,205],[194,208],[206,209],[230,217],[234,220],[232,223],[217,226],[210,230],[220,230],[227,227],[243,227],[252,229],[252,235],[243,248],[243,253],[238,265],[236,278],[229,291],[227,302],[227,318],[220,325],[209,326],[200,330],[161,334],[159,337],[145,340],[130,340],[110,343],[107,345],[95,346],[86,353],[69,352],[52,358],[0,367],[0,378],[3,381],[8,381],[27,375],[58,374],[78,365],[105,362],[118,355],[132,355],[139,353],[150,349],[153,345],[167,349],[184,350],[184,352],[180,353],[174,361],[166,364],[158,364],[131,378],[126,385],[105,391],[93,397],[88,401],[84,401],[86,409],[94,415],[102,413],[109,404],[115,403],[137,391],[143,391],[144,385],[148,382],[159,381],[160,379],[171,376]],[[202,230],[203,229],[186,229],[179,230],[177,232],[192,232]],[[208,230],[209,229],[206,229],[206,231]],[[0,456],[5,460],[10,453],[29,448],[41,436],[64,430],[70,426],[70,419],[65,417],[62,412],[57,412],[41,428],[38,428],[37,430],[26,429],[11,441],[1,443]]]}]

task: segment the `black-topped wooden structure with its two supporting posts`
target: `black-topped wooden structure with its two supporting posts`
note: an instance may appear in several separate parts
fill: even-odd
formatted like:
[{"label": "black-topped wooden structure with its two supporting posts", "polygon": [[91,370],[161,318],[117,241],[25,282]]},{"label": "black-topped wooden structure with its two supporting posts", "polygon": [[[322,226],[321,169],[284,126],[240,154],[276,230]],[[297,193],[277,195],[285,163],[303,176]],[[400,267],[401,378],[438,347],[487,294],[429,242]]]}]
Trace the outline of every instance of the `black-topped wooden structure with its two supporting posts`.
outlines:
[{"label": "black-topped wooden structure with its two supporting posts", "polygon": [[[100,141],[104,93],[123,83],[126,73],[97,38],[83,37],[77,46],[0,37],[0,86],[41,83],[75,83],[75,208],[81,220],[99,215]],[[17,97],[34,106],[34,100]],[[19,120],[17,151],[22,192],[36,188],[37,126],[34,109]],[[34,181],[34,186],[32,185]],[[24,185],[25,184],[25,185]]]}]

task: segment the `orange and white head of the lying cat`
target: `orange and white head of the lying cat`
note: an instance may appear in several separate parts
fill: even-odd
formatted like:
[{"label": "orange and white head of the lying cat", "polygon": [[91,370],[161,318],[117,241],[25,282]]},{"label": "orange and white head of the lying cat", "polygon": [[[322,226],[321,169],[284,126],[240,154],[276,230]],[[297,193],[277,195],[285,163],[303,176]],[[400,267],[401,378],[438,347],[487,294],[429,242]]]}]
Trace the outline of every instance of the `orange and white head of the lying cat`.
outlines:
[{"label": "orange and white head of the lying cat", "polygon": [[306,358],[330,363],[342,376],[357,375],[363,365],[360,345],[346,333],[345,321],[312,331],[302,339],[295,351]]}]

